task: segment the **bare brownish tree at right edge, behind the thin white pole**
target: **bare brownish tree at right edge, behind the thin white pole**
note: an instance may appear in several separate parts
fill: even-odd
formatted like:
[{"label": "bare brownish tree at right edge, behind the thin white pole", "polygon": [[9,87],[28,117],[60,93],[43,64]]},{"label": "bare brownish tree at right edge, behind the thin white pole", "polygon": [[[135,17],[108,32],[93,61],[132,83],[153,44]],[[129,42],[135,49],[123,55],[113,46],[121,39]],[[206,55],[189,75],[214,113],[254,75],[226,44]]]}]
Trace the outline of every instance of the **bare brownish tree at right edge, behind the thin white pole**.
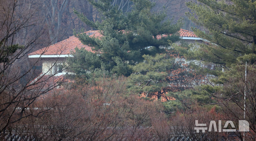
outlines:
[{"label": "bare brownish tree at right edge, behind the thin white pole", "polygon": [[[249,65],[248,65],[249,64]],[[219,105],[231,120],[249,122],[250,132],[245,134],[246,140],[255,140],[256,136],[256,66],[247,64],[245,80],[245,65],[237,65],[231,72],[233,77],[224,83],[224,91],[218,92]],[[245,100],[244,100],[245,98]],[[245,104],[245,107],[244,107]],[[245,110],[244,110],[245,108]],[[243,136],[242,132],[240,136]],[[242,138],[241,138],[242,139]]]}]

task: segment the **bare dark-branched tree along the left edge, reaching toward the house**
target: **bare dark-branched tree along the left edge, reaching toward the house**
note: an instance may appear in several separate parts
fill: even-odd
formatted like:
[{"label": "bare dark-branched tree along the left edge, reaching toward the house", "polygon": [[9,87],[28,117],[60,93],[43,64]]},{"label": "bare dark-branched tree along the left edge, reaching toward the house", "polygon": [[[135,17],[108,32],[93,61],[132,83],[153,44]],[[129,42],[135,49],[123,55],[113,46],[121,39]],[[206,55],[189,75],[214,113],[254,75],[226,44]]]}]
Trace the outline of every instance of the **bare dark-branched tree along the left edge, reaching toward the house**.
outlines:
[{"label": "bare dark-branched tree along the left edge, reaching toward the house", "polygon": [[[43,94],[49,92],[54,87],[61,85],[63,79],[51,81],[55,74],[39,77],[33,80],[36,63],[24,70],[20,67],[28,59],[27,53],[40,43],[40,37],[43,35],[43,28],[40,28],[37,16],[37,8],[22,9],[24,1],[3,0],[0,1],[0,140],[6,134],[14,131],[16,123],[24,118],[31,116],[40,117],[47,113],[52,107],[37,109],[35,102]],[[25,29],[37,26],[37,29],[31,30],[33,36],[24,36],[23,44],[15,43],[18,34]],[[23,80],[23,85],[21,80]],[[33,81],[32,81],[33,80]],[[48,82],[47,82],[48,81]],[[19,126],[21,128],[21,126]]]}]

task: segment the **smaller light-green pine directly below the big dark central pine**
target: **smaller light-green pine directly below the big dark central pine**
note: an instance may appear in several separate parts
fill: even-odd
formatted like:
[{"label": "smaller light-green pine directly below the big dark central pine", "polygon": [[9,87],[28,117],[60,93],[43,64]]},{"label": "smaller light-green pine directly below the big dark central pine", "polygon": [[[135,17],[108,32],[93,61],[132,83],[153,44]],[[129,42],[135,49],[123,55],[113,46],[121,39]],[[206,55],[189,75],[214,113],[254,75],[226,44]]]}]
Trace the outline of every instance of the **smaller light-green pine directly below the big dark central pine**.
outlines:
[{"label": "smaller light-green pine directly below the big dark central pine", "polygon": [[[168,86],[167,70],[174,66],[175,59],[167,58],[164,54],[143,55],[143,58],[143,62],[132,66],[134,73],[129,76],[129,89],[133,92],[145,93],[148,97]],[[160,97],[158,96],[158,99]]]}]

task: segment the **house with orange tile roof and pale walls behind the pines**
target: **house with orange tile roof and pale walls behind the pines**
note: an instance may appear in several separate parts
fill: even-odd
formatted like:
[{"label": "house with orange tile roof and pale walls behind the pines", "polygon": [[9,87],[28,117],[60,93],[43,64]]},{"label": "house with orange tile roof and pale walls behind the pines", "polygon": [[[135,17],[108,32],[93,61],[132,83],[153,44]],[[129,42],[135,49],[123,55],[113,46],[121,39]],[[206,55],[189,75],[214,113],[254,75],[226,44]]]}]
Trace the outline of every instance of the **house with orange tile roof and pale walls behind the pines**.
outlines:
[{"label": "house with orange tile roof and pale walls behind the pines", "polygon": [[[99,31],[87,31],[85,33],[90,37],[100,38],[103,36]],[[195,40],[203,40],[201,38],[198,38],[193,32],[187,31],[185,29],[180,29],[178,33],[180,34],[180,38],[182,40],[192,42]],[[157,36],[157,38],[160,39],[161,37],[165,36],[167,35],[162,34]],[[66,57],[72,57],[72,53],[75,51],[75,48],[85,48],[87,51],[95,52],[94,50],[92,50],[93,47],[89,45],[84,45],[77,37],[71,36],[61,42],[55,43],[53,45],[28,54],[28,58],[42,59],[42,73],[38,77],[47,75],[63,76],[65,74],[70,74],[70,72],[65,71],[64,63],[66,61]]]}]

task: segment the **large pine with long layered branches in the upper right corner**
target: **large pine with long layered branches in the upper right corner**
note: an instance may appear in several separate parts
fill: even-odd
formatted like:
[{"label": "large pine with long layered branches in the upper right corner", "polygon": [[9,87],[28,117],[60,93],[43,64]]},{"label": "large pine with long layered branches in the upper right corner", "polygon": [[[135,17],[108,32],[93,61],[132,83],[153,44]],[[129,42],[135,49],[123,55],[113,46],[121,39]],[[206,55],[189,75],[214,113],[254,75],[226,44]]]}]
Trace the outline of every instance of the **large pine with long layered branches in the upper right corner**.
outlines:
[{"label": "large pine with long layered branches in the upper right corner", "polygon": [[206,30],[193,29],[197,36],[208,40],[193,57],[222,65],[238,59],[256,60],[256,1],[198,0],[188,2],[190,19]]}]

